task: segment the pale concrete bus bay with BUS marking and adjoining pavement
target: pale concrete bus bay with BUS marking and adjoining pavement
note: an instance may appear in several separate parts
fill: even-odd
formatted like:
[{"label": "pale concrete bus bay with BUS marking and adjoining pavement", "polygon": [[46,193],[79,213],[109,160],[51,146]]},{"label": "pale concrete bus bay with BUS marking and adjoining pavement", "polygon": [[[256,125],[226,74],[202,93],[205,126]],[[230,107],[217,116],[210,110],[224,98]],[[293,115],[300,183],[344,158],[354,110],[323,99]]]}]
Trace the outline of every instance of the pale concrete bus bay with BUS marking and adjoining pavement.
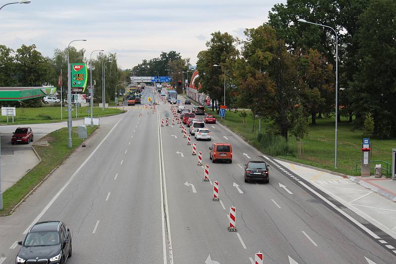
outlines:
[{"label": "pale concrete bus bay with BUS marking and adjoining pavement", "polygon": [[396,203],[376,192],[378,190],[392,192],[389,189],[396,186],[395,180],[338,176],[284,160],[274,159],[274,161],[396,239]]}]

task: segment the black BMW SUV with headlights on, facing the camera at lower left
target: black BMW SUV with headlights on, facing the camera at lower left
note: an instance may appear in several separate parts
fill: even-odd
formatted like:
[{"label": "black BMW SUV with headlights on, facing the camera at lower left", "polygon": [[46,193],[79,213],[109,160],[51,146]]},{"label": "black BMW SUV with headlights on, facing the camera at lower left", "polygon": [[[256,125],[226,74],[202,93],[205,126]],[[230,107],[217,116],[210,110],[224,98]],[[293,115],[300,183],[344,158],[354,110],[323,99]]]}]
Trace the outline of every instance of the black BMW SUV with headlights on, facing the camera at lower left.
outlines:
[{"label": "black BMW SUV with headlights on, facing the camera at lower left", "polygon": [[71,232],[62,221],[34,224],[24,241],[18,241],[21,249],[15,263],[64,264],[71,258]]}]

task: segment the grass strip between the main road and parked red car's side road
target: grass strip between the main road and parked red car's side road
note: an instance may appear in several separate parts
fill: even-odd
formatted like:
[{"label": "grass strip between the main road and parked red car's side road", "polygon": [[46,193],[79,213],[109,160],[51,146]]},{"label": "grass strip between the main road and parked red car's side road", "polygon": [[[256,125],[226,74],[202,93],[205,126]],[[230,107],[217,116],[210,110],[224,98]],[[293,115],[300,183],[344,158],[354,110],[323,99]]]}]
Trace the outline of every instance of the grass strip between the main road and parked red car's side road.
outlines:
[{"label": "grass strip between the main road and parked red car's side road", "polygon": [[[87,127],[88,136],[96,129],[97,126]],[[60,166],[83,141],[78,138],[77,127],[73,127],[71,148],[68,147],[68,137],[68,129],[62,128],[43,137],[41,141],[48,141],[48,146],[35,146],[42,161],[3,193],[3,209],[0,210],[0,216],[9,215],[13,208],[52,170]]]}]

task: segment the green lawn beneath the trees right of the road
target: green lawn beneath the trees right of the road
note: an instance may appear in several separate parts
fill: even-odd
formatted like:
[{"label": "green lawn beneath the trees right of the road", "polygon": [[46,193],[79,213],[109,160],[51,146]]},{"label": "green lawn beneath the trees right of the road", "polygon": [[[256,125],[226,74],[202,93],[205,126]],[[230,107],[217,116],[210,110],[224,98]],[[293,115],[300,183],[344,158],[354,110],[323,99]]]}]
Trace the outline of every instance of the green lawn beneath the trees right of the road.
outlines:
[{"label": "green lawn beneath the trees right of the road", "polygon": [[[210,110],[208,112],[213,113]],[[250,144],[258,148],[261,152],[267,153],[257,140],[258,120],[256,120],[256,131],[253,133],[253,120],[249,114],[247,115],[247,124],[245,126],[242,124],[242,117],[234,111],[228,111],[226,113],[225,120],[221,120],[217,114],[215,114],[215,116],[220,123],[243,136]],[[265,131],[266,127],[267,124],[265,124],[265,122],[261,122],[262,132]],[[348,123],[347,120],[342,119],[342,122],[339,123],[338,126],[337,169],[334,168],[334,118],[317,119],[317,125],[310,125],[309,135],[302,140],[305,144],[304,153],[301,159],[297,158],[297,141],[294,136],[289,137],[288,144],[294,150],[295,154],[293,156],[279,157],[351,176],[360,175],[360,172],[356,173],[356,162],[361,159],[360,148],[362,131],[356,130],[355,132],[352,132],[351,129],[352,124]],[[371,161],[386,161],[388,163],[392,163],[392,148],[396,147],[396,139],[383,140],[371,138],[371,143]],[[385,164],[383,163],[382,166],[384,167]],[[374,164],[372,164],[372,167],[374,167]],[[385,174],[384,171],[383,173]]]}]

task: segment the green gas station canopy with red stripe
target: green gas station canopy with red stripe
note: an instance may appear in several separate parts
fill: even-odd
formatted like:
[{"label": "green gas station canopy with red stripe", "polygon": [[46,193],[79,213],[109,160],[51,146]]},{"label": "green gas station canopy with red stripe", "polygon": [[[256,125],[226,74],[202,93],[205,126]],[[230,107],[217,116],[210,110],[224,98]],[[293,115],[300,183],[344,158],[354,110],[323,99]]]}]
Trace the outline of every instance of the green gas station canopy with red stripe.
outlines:
[{"label": "green gas station canopy with red stripe", "polygon": [[0,101],[22,101],[54,94],[54,87],[0,87]]}]

